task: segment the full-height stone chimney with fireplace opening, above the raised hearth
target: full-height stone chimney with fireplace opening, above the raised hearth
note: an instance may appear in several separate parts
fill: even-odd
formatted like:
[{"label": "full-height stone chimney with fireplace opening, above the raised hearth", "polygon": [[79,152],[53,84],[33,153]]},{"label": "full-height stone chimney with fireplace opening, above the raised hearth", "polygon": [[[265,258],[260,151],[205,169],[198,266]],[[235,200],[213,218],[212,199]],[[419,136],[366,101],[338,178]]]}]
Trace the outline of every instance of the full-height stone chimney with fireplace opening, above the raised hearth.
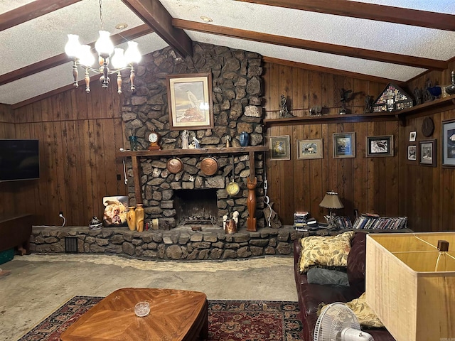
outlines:
[{"label": "full-height stone chimney with fireplace opening, above the raised hearth", "polygon": [[[171,48],[144,56],[144,62],[137,68],[137,92],[133,95],[127,90],[129,79],[124,77],[122,119],[125,137],[137,136],[141,149],[146,150],[149,144],[145,137],[155,130],[161,135],[162,149],[153,155],[138,154],[140,193],[135,191],[135,170],[131,159],[127,158],[130,204],[142,202],[146,221],[157,218],[160,229],[183,224],[185,216],[192,212],[213,217],[215,224],[222,228],[223,216],[231,218],[235,211],[240,214],[237,227],[245,229],[248,217],[246,183],[251,172],[257,178],[257,227],[264,227],[264,154],[246,149],[240,151],[242,148],[239,148],[243,131],[250,135],[250,146],[264,144],[262,57],[257,53],[203,43],[194,43],[193,51],[193,57],[185,59],[177,57]],[[169,128],[166,75],[201,72],[212,75],[214,128],[190,131],[190,139],[194,136],[200,141],[201,151],[226,149],[216,155],[182,153],[182,131]],[[225,148],[225,136],[230,136],[235,153]],[[179,151],[184,165],[176,174],[166,168],[174,150]],[[200,162],[208,156],[216,158],[219,165],[218,172],[210,176],[200,169]],[[232,168],[240,192],[231,197],[225,188],[232,180]],[[141,200],[137,200],[137,195],[141,195]],[[190,214],[184,210],[190,210]]]}]

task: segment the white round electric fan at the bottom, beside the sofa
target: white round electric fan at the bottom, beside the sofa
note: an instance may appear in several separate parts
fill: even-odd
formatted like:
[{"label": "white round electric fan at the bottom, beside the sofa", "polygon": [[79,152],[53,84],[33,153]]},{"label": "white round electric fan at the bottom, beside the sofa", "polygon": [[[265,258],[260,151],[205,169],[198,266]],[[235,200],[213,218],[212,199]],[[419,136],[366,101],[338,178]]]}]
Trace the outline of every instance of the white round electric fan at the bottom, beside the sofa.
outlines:
[{"label": "white round electric fan at the bottom, beside the sofa", "polygon": [[360,330],[353,310],[343,303],[328,305],[316,321],[313,341],[374,341],[368,332]]}]

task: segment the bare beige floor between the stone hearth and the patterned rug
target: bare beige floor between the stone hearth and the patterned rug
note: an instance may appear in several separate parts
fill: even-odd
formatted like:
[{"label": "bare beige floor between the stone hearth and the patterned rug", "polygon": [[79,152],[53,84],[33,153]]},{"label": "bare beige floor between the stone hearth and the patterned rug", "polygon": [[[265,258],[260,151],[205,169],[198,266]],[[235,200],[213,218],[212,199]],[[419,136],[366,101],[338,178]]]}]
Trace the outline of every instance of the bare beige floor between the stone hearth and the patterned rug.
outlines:
[{"label": "bare beige floor between the stone hearth and the patterned rug", "polygon": [[31,254],[1,264],[0,340],[18,340],[73,296],[118,288],[176,288],[209,300],[297,301],[291,256],[240,261],[139,261],[90,254]]}]

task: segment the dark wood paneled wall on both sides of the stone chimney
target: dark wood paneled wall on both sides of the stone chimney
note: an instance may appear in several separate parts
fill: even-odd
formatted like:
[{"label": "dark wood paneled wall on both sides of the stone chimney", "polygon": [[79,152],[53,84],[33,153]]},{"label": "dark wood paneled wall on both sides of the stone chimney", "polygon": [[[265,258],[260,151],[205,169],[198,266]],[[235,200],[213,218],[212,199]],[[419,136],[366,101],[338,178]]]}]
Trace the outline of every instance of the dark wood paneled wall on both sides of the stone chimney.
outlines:
[{"label": "dark wood paneled wall on both sides of the stone chimney", "polygon": [[[433,84],[437,80],[449,84],[451,68],[413,80],[409,89],[423,87],[426,77]],[[386,85],[274,63],[264,63],[264,70],[267,118],[278,116],[280,94],[287,96],[288,107],[297,117],[308,115],[314,106],[336,114],[341,88],[353,90],[349,109],[361,114],[365,94],[376,97]],[[38,181],[0,183],[4,200],[0,216],[27,212],[36,215],[33,224],[60,225],[58,212],[63,210],[68,225],[86,225],[92,215],[102,215],[102,197],[127,194],[122,161],[114,156],[125,139],[121,99],[113,88],[105,92],[94,86],[91,94],[82,88],[70,90],[13,112],[9,106],[0,107],[0,137],[39,139],[42,171]],[[267,153],[267,194],[282,222],[292,224],[293,214],[299,210],[323,220],[327,210],[319,202],[327,190],[335,190],[345,206],[338,210],[340,215],[353,218],[357,209],[407,216],[409,227],[416,231],[455,230],[455,169],[441,168],[439,159],[441,120],[455,117],[455,110],[428,114],[436,124],[436,168],[407,161],[409,133],[417,131],[418,145],[425,115],[409,117],[405,126],[398,121],[271,126],[267,137],[289,135],[291,141],[291,160],[270,161]],[[356,157],[334,159],[333,133],[349,131],[355,132]],[[395,156],[365,157],[365,137],[378,135],[395,136]],[[297,139],[323,139],[323,158],[297,160]]]}]

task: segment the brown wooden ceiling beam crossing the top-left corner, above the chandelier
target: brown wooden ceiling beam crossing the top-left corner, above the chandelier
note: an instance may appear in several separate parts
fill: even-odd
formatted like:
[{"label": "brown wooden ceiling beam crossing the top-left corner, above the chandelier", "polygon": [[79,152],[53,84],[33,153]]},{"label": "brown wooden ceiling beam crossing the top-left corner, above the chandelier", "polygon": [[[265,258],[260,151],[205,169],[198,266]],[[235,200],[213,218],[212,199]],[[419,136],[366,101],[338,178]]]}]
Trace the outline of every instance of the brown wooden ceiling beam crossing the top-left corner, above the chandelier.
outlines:
[{"label": "brown wooden ceiling beam crossing the top-left corner, above the chandelier", "polygon": [[0,15],[0,32],[81,0],[36,0]]}]

